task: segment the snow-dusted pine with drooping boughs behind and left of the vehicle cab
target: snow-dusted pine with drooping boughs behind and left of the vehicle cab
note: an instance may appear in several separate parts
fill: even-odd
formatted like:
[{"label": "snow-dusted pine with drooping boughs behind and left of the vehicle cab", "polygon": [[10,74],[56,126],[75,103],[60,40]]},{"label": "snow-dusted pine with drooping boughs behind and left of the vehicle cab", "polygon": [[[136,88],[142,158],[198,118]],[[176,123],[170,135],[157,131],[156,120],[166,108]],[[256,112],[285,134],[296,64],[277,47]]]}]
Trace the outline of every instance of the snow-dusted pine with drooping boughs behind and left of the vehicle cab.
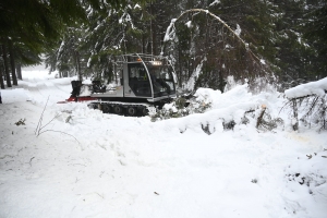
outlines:
[{"label": "snow-dusted pine with drooping boughs behind and left of the vehicle cab", "polygon": [[[68,32],[61,47],[49,52],[46,62],[52,65],[52,70],[70,71],[77,51],[83,60],[78,69],[84,75],[118,82],[112,61],[117,55],[143,51],[143,37],[146,35],[144,20],[148,16],[143,14],[143,8],[138,4],[126,4],[118,10],[106,5],[101,11],[89,8],[86,13],[87,25],[74,28],[74,34]],[[71,51],[73,48],[74,52]]]}]

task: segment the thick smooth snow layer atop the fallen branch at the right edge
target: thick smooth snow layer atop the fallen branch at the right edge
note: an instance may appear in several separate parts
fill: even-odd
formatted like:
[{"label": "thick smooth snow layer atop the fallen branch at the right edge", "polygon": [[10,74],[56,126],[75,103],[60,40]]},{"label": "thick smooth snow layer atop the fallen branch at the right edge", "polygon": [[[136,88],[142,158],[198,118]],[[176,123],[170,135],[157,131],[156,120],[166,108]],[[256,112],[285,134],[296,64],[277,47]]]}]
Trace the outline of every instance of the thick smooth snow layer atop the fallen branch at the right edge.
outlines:
[{"label": "thick smooth snow layer atop the fallen branch at the right edge", "polygon": [[316,82],[305,83],[284,92],[288,98],[299,98],[307,95],[324,96],[327,92],[327,77]]}]

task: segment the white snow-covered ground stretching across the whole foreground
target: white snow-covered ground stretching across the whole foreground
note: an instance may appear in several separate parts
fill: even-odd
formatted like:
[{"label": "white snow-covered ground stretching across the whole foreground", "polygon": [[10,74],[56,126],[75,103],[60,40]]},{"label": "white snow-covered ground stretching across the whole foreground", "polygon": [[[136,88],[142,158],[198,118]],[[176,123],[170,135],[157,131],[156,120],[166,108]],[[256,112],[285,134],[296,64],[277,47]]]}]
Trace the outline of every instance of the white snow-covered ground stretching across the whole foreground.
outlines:
[{"label": "white snow-covered ground stretching across the whole foreground", "polygon": [[[19,87],[1,90],[1,218],[327,216],[326,131],[293,132],[278,93],[204,89],[209,111],[152,122],[56,104],[71,78],[40,74],[23,72]],[[241,124],[262,105],[284,124]]]}]

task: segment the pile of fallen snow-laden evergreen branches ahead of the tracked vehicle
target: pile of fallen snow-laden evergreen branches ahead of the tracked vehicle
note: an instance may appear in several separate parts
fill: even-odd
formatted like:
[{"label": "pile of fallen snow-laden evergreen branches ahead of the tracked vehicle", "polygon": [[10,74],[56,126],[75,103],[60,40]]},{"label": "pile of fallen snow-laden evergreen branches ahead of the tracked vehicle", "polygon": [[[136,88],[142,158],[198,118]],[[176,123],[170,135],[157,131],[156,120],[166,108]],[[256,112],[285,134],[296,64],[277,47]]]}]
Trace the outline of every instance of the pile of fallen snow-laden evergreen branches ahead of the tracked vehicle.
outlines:
[{"label": "pile of fallen snow-laden evergreen branches ahead of the tracked vehicle", "polygon": [[[231,100],[241,99],[240,96],[243,100]],[[227,101],[229,104],[221,104]],[[201,126],[208,135],[216,131],[233,130],[241,124],[255,125],[263,132],[283,128],[283,120],[274,118],[267,104],[269,105],[268,101],[253,98],[246,84],[223,94],[210,88],[198,88],[192,97],[177,98],[171,104],[166,104],[161,110],[150,112],[149,116],[154,122],[181,118],[178,122],[181,133],[194,126]]]}]

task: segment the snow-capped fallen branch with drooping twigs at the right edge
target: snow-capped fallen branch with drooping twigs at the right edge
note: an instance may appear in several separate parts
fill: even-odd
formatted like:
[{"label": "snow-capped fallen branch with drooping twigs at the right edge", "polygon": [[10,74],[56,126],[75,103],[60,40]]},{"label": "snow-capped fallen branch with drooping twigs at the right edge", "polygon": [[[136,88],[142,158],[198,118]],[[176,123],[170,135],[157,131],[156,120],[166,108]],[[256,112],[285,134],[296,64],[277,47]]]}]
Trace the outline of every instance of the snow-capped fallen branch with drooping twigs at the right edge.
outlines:
[{"label": "snow-capped fallen branch with drooping twigs at the right edge", "polygon": [[298,85],[284,92],[292,107],[292,128],[299,130],[300,121],[304,125],[317,124],[319,130],[327,129],[327,77]]}]

